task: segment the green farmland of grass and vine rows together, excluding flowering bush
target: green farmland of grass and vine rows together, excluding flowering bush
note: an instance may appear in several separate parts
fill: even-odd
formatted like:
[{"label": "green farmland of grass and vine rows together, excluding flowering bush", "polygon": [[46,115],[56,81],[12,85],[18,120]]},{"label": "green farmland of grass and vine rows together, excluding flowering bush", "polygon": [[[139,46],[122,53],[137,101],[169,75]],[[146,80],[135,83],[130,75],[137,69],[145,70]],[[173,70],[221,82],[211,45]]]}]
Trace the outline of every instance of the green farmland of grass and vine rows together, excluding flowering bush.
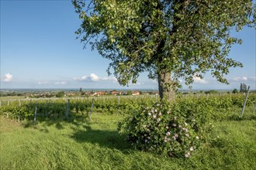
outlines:
[{"label": "green farmland of grass and vine rows together, excluding flowering bush", "polygon": [[178,97],[177,110],[209,114],[213,124],[191,158],[140,151],[116,130],[156,97],[2,100],[1,169],[255,169],[255,99],[241,118],[243,94]]}]

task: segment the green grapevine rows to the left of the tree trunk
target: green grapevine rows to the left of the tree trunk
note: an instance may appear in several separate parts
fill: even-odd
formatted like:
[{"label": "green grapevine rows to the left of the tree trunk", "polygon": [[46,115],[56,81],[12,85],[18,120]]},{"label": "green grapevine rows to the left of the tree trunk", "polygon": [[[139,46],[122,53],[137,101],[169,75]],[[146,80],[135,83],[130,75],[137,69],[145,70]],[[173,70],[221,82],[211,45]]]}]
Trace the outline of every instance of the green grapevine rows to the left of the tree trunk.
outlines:
[{"label": "green grapevine rows to the left of the tree trunk", "polygon": [[[69,100],[69,102],[67,102]],[[43,117],[77,116],[90,111],[107,113],[126,113],[140,104],[155,101],[155,97],[87,97],[87,98],[48,98],[1,100],[0,114],[10,118],[33,119],[35,111]],[[93,105],[93,108],[92,108]],[[67,110],[68,106],[68,110]]]}]

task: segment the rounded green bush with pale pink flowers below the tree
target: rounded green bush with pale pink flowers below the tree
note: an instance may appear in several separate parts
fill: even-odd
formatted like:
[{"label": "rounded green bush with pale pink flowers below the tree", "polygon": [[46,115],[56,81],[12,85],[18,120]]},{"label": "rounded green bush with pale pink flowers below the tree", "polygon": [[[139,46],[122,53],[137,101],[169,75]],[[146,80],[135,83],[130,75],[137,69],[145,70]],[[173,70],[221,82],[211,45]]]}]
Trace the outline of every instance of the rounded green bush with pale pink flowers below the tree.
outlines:
[{"label": "rounded green bush with pale pink flowers below the tree", "polygon": [[180,114],[168,102],[140,107],[119,122],[118,130],[136,148],[164,155],[189,158],[201,137],[194,117]]}]

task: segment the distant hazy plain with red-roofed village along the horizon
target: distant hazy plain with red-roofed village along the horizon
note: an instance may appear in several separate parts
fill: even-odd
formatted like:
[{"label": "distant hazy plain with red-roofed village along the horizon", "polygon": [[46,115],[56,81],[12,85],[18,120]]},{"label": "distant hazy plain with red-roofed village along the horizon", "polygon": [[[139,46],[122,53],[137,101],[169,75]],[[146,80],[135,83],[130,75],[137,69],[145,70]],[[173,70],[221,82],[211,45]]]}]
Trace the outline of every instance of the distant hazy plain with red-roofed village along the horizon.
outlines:
[{"label": "distant hazy plain with red-roofed village along the horizon", "polygon": [[[240,84],[240,90],[183,90],[180,94],[246,93],[247,86]],[[256,90],[250,90],[256,93]],[[158,95],[157,90],[82,90],[80,89],[0,89],[0,97],[50,98],[50,97],[103,97]]]}]

